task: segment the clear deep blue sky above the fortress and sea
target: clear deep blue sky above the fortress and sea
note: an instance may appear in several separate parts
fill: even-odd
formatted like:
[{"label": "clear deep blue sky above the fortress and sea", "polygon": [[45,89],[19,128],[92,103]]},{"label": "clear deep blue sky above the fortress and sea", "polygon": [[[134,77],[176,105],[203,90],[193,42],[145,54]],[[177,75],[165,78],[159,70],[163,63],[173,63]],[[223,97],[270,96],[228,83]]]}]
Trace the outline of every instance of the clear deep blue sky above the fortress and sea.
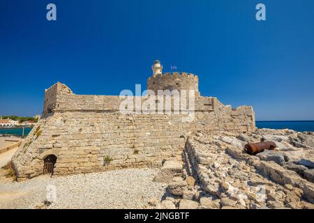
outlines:
[{"label": "clear deep blue sky above the fortress and sea", "polygon": [[313,0],[0,0],[2,115],[40,114],[57,81],[77,94],[144,90],[155,59],[257,120],[314,120]]}]

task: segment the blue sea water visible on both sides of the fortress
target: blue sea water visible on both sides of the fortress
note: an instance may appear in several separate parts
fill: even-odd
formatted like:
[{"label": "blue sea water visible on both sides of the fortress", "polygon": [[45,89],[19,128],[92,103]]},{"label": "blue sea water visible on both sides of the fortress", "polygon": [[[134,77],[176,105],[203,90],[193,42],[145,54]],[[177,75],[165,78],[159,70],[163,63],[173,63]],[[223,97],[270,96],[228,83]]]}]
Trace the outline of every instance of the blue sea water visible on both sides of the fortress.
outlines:
[{"label": "blue sea water visible on both sides of the fortress", "polygon": [[[257,128],[273,128],[296,130],[298,132],[314,132],[314,121],[256,121]],[[0,134],[22,136],[23,128],[0,128]],[[24,136],[31,132],[31,128],[24,129]]]}]

